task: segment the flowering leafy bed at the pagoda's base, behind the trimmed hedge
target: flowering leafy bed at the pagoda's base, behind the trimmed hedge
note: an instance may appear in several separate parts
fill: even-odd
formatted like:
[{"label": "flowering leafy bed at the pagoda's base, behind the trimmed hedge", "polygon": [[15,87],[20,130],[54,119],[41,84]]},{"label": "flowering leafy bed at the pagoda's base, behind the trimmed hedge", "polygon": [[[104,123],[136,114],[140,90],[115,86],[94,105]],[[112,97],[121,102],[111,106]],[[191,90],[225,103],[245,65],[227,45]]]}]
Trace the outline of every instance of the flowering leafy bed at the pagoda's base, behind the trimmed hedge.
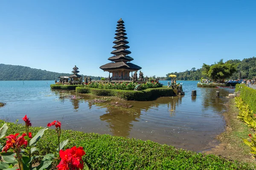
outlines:
[{"label": "flowering leafy bed at the pagoda's base, behind the trimmed hedge", "polygon": [[[86,88],[99,88],[99,89],[118,89],[118,90],[134,90],[137,82],[90,82],[85,85]],[[161,88],[163,84],[158,81],[147,81],[140,83],[140,89],[144,90],[147,88]]]}]

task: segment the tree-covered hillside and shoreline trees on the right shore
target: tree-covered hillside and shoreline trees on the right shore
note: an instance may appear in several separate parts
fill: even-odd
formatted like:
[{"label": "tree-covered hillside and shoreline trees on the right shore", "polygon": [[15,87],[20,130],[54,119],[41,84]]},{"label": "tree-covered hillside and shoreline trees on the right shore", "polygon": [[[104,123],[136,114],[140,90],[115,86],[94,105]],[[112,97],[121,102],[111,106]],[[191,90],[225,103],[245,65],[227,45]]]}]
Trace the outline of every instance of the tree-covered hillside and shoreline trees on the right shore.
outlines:
[{"label": "tree-covered hillside and shoreline trees on the right shore", "polygon": [[170,74],[175,74],[177,80],[200,80],[201,77],[218,81],[223,79],[256,79],[256,57],[240,59],[230,59],[212,65],[203,64],[202,68],[192,68],[184,72],[172,72],[166,74],[165,79],[170,80]]}]

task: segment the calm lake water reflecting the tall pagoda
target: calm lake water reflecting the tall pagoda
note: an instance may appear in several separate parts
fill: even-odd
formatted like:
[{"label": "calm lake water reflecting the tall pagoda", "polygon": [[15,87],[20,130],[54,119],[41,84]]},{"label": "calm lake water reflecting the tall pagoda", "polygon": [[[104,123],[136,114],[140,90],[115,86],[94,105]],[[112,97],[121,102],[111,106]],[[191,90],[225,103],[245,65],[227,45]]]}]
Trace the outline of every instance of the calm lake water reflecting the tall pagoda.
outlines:
[{"label": "calm lake water reflecting the tall pagoda", "polygon": [[[160,81],[167,85],[168,81]],[[0,118],[10,122],[27,114],[32,126],[46,127],[59,120],[64,129],[152,140],[161,144],[202,151],[217,142],[224,131],[222,113],[234,89],[197,88],[198,81],[183,81],[185,96],[136,102],[99,98],[75,91],[51,90],[54,81],[0,81]],[[197,96],[191,96],[196,90]],[[220,91],[220,98],[215,98]],[[76,99],[72,98],[76,95]],[[96,99],[96,101],[95,101]],[[113,103],[131,104],[122,108]]]}]

